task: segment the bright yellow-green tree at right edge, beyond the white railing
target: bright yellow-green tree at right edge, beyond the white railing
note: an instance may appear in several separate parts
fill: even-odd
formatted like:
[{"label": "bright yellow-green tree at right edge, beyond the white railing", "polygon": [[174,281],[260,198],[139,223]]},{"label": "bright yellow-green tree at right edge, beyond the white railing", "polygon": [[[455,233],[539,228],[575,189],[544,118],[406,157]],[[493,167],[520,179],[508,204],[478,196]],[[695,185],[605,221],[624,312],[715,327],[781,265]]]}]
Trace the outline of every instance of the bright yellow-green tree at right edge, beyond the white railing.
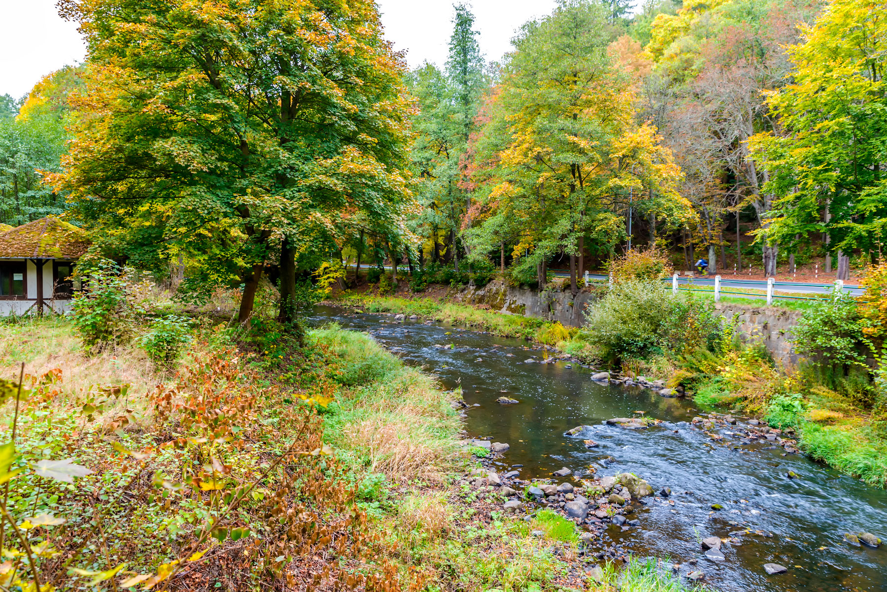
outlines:
[{"label": "bright yellow-green tree at right edge, beyond the white railing", "polygon": [[750,142],[771,175],[768,236],[828,233],[839,279],[849,279],[852,249],[880,256],[887,227],[885,9],[870,0],[829,4],[789,50],[794,82],[768,100],[781,133]]}]

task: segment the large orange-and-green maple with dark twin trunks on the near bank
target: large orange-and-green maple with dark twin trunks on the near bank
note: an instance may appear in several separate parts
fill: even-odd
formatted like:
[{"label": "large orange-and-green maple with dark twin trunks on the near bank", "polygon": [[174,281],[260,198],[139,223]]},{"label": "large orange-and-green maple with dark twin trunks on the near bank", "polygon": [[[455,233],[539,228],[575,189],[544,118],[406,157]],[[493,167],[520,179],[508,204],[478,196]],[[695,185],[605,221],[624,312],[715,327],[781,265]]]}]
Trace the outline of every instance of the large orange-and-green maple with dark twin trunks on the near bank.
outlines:
[{"label": "large orange-and-green maple with dark twin trunks on the near bank", "polygon": [[[143,260],[184,253],[244,284],[341,254],[365,216],[404,229],[409,102],[368,0],[64,0],[89,47],[64,171],[77,213]],[[292,319],[292,282],[281,318]]]}]

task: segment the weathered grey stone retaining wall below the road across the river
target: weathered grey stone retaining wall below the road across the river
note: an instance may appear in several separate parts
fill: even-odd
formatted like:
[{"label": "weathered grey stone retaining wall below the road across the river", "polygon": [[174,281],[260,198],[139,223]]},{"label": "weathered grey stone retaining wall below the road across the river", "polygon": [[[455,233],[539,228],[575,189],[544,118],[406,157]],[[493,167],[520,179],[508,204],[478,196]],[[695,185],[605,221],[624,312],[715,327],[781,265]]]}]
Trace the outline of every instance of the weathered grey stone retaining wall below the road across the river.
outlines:
[{"label": "weathered grey stone retaining wall below the road across the river", "polygon": [[[537,292],[497,280],[481,287],[468,286],[452,294],[452,298],[465,304],[486,305],[506,315],[527,315],[580,327],[585,322],[585,308],[597,299],[598,293],[586,289],[574,297],[569,286],[565,290],[561,284],[552,284],[548,290]],[[744,341],[761,339],[774,358],[785,364],[797,363],[789,338],[801,316],[799,311],[739,304],[716,304],[715,308],[727,321],[738,315],[736,331]]]}]

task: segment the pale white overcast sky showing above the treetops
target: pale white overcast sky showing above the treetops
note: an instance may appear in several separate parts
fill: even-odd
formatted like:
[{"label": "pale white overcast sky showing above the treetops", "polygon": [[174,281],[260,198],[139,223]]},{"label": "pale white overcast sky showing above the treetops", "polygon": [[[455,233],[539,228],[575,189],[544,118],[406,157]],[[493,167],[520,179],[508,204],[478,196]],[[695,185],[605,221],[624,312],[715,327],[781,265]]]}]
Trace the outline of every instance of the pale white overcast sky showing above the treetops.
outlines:
[{"label": "pale white overcast sky showing above the treetops", "polygon": [[[378,0],[385,36],[405,50],[411,67],[428,60],[443,66],[450,39],[452,4],[447,0]],[[474,0],[481,51],[498,60],[510,50],[515,30],[552,12],[555,0]],[[22,97],[45,74],[80,62],[86,46],[76,23],[61,19],[55,0],[0,0],[0,95]]]}]

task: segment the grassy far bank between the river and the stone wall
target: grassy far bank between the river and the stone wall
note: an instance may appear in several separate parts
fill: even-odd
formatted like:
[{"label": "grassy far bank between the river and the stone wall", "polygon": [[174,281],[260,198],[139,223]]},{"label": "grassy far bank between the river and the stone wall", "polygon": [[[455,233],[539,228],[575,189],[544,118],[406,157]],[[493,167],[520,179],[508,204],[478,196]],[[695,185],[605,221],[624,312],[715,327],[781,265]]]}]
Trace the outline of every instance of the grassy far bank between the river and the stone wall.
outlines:
[{"label": "grassy far bank between the river and the stone wall", "polygon": [[[341,306],[365,312],[415,315],[423,320],[463,324],[505,337],[531,339],[590,364],[600,358],[587,331],[568,329],[522,315],[503,315],[421,294],[378,296],[345,294]],[[797,369],[775,364],[754,342],[722,354],[665,355],[623,362],[625,378],[646,378],[649,385],[686,388],[703,409],[731,410],[757,417],[773,429],[789,429],[800,438],[799,448],[812,458],[862,479],[887,487],[887,430],[871,411],[848,397],[817,384]],[[796,394],[797,393],[797,394]]]}]

